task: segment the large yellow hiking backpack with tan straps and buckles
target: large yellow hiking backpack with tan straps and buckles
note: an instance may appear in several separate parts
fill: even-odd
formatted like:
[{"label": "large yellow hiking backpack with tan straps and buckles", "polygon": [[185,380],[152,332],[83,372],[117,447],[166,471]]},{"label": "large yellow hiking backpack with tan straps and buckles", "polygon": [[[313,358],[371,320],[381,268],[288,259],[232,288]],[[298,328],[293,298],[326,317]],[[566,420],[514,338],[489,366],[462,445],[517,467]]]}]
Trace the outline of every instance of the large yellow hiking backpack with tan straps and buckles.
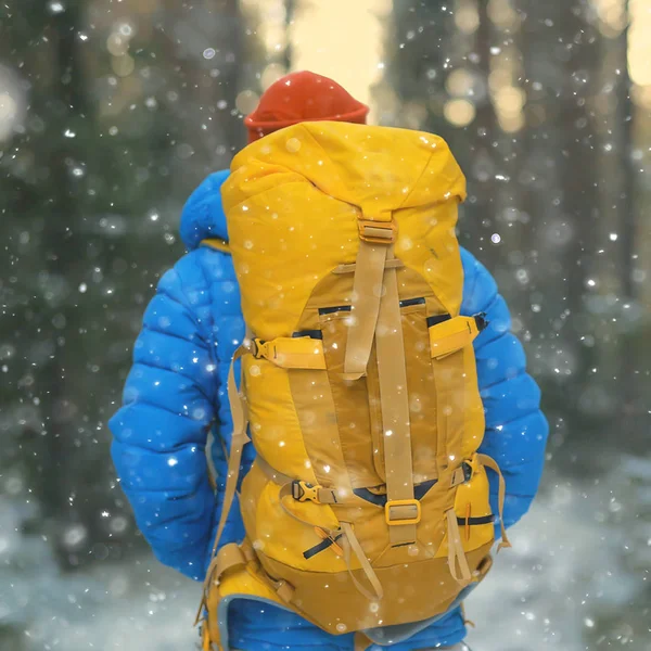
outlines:
[{"label": "large yellow hiking backpack with tan straps and buckles", "polygon": [[248,334],[215,551],[248,436],[257,457],[246,539],[206,577],[204,649],[229,648],[241,597],[358,649],[405,639],[490,566],[485,467],[505,496],[476,451],[485,321],[459,315],[464,177],[436,136],[307,123],[244,149],[221,192]]}]

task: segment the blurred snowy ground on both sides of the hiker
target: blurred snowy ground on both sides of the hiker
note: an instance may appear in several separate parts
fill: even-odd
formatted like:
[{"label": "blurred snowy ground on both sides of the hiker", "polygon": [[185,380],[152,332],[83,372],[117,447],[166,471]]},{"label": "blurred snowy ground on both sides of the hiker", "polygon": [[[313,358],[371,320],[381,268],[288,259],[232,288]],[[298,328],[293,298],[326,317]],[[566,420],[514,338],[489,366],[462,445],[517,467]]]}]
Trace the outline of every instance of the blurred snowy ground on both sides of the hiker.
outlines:
[{"label": "blurred snowy ground on both sides of the hiker", "polygon": [[[26,564],[47,545],[7,536],[9,512],[0,502],[2,651],[194,649],[197,585],[150,557],[67,575],[48,556]],[[651,462],[622,459],[589,485],[548,473],[512,541],[467,604],[473,651],[651,651]]]}]

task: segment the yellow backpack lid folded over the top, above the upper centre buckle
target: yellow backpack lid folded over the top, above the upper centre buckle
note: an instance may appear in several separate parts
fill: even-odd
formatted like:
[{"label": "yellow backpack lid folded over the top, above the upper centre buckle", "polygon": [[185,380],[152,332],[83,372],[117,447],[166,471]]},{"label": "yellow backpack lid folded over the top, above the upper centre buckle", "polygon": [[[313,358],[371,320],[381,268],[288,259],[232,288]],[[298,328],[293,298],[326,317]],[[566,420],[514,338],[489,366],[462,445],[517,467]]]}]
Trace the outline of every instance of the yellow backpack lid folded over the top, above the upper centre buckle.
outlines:
[{"label": "yellow backpack lid folded over the top, above the upper centre buckle", "polygon": [[243,149],[231,173],[222,188],[229,221],[238,204],[299,177],[369,218],[465,199],[465,177],[441,137],[393,127],[301,123]]}]

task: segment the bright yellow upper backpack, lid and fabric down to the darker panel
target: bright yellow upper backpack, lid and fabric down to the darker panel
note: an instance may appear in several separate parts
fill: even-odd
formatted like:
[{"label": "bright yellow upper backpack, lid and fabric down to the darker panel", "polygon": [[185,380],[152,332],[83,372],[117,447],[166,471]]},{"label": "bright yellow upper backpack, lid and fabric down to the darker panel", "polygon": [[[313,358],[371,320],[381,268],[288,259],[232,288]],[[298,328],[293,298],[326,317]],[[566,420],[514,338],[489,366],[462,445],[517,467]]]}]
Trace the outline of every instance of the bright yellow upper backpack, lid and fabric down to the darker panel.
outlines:
[{"label": "bright yellow upper backpack, lid and fabric down to the darker panel", "polygon": [[354,263],[361,219],[398,227],[396,255],[459,314],[455,237],[465,179],[437,136],[302,123],[248,145],[222,186],[244,318],[264,340],[291,336],[315,285]]}]

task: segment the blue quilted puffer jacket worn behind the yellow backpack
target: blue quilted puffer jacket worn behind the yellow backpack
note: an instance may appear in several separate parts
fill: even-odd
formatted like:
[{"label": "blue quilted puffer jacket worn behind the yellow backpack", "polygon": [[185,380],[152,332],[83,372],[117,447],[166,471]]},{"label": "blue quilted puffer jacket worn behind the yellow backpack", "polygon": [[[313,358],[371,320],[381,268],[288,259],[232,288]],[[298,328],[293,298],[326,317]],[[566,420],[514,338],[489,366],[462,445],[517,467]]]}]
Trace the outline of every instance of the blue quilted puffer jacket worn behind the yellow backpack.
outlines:
[{"label": "blue quilted puffer jacket worn behind the yellow backpack", "polygon": [[[220,199],[227,176],[228,171],[221,171],[208,177],[186,205],[181,237],[190,253],[162,278],[146,309],[124,406],[110,423],[113,459],[138,526],[161,562],[197,580],[204,578],[225,490],[222,443],[228,449],[232,430],[227,373],[231,355],[244,336],[231,259],[200,246],[204,238],[227,239]],[[470,253],[462,251],[461,256],[465,275],[462,314],[483,311],[489,322],[474,344],[486,411],[481,451],[494,457],[505,474],[505,522],[510,526],[526,512],[538,488],[548,426],[539,410],[538,387],[525,372],[523,348],[509,332],[509,311],[495,281]],[[210,454],[218,473],[216,494],[204,456],[210,427],[215,432]],[[241,475],[253,457],[248,445]],[[492,481],[497,513],[496,477]],[[233,508],[222,544],[243,536],[239,509]],[[253,601],[239,603],[231,609],[229,622],[230,644],[237,649],[353,649],[352,635],[334,637],[293,613],[260,608]],[[454,644],[464,635],[456,609],[392,649]]]}]

